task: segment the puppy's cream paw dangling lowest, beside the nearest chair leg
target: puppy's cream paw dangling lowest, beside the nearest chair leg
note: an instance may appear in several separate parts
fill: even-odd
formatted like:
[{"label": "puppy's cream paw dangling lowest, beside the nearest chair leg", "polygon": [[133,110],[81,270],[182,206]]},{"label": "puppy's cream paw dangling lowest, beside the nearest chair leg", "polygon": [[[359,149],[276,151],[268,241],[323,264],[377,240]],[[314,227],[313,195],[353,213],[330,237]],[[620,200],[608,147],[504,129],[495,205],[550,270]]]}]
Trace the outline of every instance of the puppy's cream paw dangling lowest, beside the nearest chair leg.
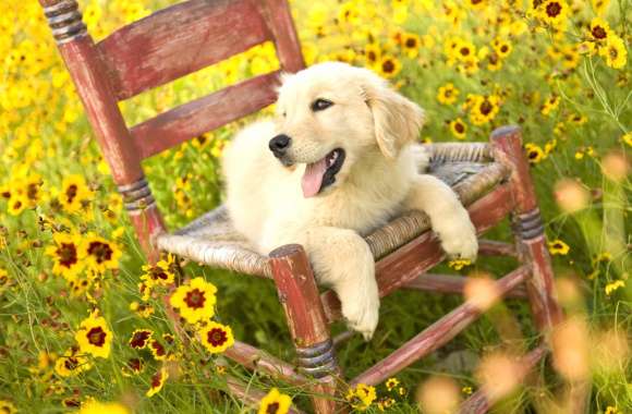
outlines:
[{"label": "puppy's cream paw dangling lowest, beside the nearest chair leg", "polygon": [[379,296],[377,289],[372,294],[340,296],[342,302],[342,316],[347,325],[356,332],[362,333],[368,341],[373,338],[379,319]]}]

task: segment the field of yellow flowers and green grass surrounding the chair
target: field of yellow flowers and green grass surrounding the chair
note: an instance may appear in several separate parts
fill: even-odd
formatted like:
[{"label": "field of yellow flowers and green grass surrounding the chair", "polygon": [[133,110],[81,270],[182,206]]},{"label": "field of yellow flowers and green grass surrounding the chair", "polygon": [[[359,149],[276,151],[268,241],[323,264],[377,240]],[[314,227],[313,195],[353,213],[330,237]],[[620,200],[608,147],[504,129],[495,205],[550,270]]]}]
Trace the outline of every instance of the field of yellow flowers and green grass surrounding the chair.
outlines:
[{"label": "field of yellow flowers and green grass surrounding the chair", "polygon": [[[80,1],[95,39],[172,3]],[[570,412],[582,399],[591,413],[632,412],[632,3],[291,5],[307,63],[340,60],[390,78],[427,111],[421,141],[486,141],[499,125],[522,126],[567,313],[550,338],[552,358],[525,387],[513,382],[512,355],[538,338],[527,305],[510,300],[397,379],[350,389],[352,410],[451,412],[487,387],[502,397],[501,413]],[[37,1],[0,3],[0,412],[253,410],[223,392],[227,374],[270,391],[259,412],[307,407],[306,390],[221,356],[239,339],[292,357],[271,282],[181,264],[184,278],[170,302],[187,343],[177,334],[163,302],[179,281],[177,259],[145,263]],[[121,109],[133,125],[277,68],[272,45],[264,45]],[[246,121],[145,163],[170,228],[221,203],[219,157]],[[509,227],[491,235],[509,240]],[[512,265],[481,259],[442,270],[476,281]],[[418,292],[385,299],[375,337],[343,344],[341,365],[360,374],[460,301]]]}]

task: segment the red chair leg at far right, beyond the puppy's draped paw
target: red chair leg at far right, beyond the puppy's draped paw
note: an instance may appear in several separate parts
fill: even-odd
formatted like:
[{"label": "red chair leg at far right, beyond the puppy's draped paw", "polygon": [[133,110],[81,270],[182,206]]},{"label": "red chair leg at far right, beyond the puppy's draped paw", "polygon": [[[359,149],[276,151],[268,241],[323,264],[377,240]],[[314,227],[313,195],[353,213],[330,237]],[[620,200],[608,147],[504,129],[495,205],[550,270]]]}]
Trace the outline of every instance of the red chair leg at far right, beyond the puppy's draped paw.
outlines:
[{"label": "red chair leg at far right, beyond the puppy's draped paw", "polygon": [[494,131],[491,145],[495,158],[512,169],[510,182],[515,200],[514,233],[519,258],[532,267],[533,275],[526,282],[526,290],[537,328],[545,333],[561,320],[561,310],[520,129],[503,126]]}]

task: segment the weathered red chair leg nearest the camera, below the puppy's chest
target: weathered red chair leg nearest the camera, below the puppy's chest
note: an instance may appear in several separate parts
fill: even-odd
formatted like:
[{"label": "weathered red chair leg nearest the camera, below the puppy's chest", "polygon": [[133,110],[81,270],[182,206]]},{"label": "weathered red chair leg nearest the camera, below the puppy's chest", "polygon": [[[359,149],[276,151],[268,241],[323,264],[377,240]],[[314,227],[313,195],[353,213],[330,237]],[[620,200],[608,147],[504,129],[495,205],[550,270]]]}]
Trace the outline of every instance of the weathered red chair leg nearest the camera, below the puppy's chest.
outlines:
[{"label": "weathered red chair leg nearest the camera, below the puppy's chest", "polygon": [[313,398],[314,410],[317,414],[333,413],[341,370],[307,255],[301,245],[289,244],[269,256],[300,369],[317,380],[314,392],[320,397]]}]

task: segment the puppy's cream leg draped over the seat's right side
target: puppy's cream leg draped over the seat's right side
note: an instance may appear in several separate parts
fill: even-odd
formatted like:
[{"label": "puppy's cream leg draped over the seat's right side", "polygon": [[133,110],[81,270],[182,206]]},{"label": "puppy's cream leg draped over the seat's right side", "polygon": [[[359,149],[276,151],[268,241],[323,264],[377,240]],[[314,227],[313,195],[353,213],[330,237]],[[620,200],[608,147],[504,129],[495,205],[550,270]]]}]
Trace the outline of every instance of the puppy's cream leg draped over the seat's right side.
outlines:
[{"label": "puppy's cream leg draped over the seat's right side", "polygon": [[475,259],[478,253],[476,230],[457,194],[433,175],[417,175],[405,207],[425,211],[443,251],[451,257]]}]

